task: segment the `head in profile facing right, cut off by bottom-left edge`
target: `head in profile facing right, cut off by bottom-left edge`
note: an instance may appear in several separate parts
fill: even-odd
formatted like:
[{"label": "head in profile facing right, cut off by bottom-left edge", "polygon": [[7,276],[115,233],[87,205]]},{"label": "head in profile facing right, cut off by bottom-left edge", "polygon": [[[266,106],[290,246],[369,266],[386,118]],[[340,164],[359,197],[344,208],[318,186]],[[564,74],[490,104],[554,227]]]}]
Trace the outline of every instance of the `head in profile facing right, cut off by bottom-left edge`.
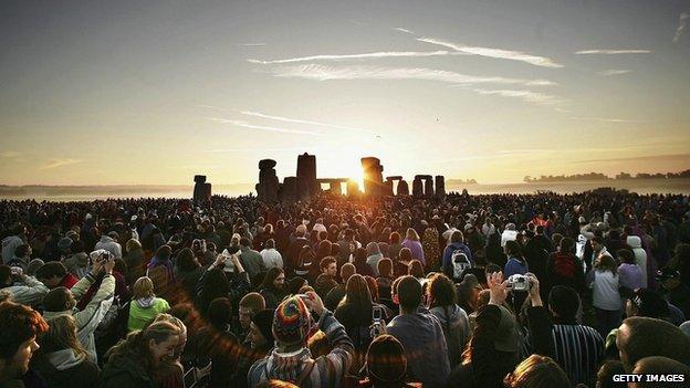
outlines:
[{"label": "head in profile facing right, cut off by bottom-left edge", "polygon": [[0,382],[19,378],[29,370],[31,356],[39,349],[35,339],[46,331],[48,323],[31,307],[0,303]]}]

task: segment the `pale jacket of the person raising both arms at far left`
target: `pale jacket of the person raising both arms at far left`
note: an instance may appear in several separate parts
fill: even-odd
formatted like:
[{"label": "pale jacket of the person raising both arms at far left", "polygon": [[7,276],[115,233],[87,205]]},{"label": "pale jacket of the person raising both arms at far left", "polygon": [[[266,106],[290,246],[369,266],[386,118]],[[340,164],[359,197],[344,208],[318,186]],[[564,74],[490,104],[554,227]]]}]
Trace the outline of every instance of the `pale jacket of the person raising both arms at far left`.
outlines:
[{"label": "pale jacket of the person raising both arms at far left", "polygon": [[[95,279],[90,273],[82,277],[70,292],[76,301],[81,300],[86,293],[91,284],[95,282]],[[94,339],[94,332],[98,328],[98,324],[105,317],[111,305],[113,304],[113,295],[115,293],[115,277],[113,275],[105,275],[101,287],[88,302],[86,307],[82,311],[74,307],[73,310],[65,310],[62,312],[45,312],[43,317],[45,321],[50,321],[60,315],[72,315],[76,323],[76,337],[90,354],[91,359],[96,361],[96,342]]]}]

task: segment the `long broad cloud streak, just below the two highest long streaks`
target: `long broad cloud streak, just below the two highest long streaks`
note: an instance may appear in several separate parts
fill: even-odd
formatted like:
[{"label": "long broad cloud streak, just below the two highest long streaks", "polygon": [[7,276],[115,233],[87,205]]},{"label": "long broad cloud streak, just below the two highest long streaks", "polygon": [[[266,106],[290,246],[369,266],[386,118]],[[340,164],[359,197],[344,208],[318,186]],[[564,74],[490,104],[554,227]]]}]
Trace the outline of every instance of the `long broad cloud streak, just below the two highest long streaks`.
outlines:
[{"label": "long broad cloud streak, just below the two highest long streaks", "polygon": [[450,84],[518,84],[525,86],[551,86],[547,80],[508,78],[501,76],[477,76],[445,70],[425,67],[379,67],[379,66],[325,66],[303,64],[273,69],[269,73],[281,77],[300,77],[316,81],[331,80],[424,80]]}]

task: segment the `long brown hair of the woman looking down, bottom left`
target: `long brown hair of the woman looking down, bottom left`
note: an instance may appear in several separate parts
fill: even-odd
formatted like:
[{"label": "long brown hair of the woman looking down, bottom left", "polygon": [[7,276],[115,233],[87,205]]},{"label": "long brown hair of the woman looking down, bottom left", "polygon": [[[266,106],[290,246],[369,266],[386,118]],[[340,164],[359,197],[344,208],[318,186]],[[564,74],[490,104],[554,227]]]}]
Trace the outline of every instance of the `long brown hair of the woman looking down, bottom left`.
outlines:
[{"label": "long brown hair of the woman looking down, bottom left", "polygon": [[169,322],[154,322],[143,331],[134,331],[127,335],[127,338],[117,343],[106,354],[105,358],[109,360],[117,357],[127,357],[140,363],[144,369],[151,370],[156,364],[154,355],[148,347],[153,339],[156,344],[166,342],[170,336],[179,336],[180,329]]}]

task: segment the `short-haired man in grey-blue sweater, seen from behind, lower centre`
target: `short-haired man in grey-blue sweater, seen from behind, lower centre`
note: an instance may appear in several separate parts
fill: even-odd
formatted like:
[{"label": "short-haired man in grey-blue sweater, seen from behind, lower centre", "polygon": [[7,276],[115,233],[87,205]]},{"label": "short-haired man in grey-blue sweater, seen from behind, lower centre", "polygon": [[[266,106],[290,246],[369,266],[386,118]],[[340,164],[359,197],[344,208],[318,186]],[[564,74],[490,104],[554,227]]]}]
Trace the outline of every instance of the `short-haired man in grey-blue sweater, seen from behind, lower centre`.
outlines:
[{"label": "short-haired man in grey-blue sweater, seen from behind, lower centre", "polygon": [[420,313],[422,290],[414,276],[397,284],[399,314],[386,326],[386,332],[405,347],[410,375],[425,387],[442,387],[450,374],[448,344],[439,321],[432,314]]}]

